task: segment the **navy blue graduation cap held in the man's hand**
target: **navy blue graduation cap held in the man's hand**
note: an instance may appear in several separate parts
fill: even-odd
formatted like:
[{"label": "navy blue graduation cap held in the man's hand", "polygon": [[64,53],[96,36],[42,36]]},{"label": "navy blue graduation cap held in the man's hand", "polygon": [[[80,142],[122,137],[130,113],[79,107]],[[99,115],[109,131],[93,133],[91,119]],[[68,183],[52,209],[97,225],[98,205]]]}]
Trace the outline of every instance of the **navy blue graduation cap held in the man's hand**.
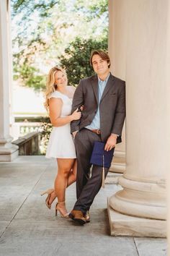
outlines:
[{"label": "navy blue graduation cap held in the man's hand", "polygon": [[96,141],[94,142],[93,152],[91,154],[90,163],[96,164],[97,166],[102,166],[105,168],[109,168],[112,163],[112,157],[115,148],[112,150],[106,151],[104,150],[105,143]]}]

